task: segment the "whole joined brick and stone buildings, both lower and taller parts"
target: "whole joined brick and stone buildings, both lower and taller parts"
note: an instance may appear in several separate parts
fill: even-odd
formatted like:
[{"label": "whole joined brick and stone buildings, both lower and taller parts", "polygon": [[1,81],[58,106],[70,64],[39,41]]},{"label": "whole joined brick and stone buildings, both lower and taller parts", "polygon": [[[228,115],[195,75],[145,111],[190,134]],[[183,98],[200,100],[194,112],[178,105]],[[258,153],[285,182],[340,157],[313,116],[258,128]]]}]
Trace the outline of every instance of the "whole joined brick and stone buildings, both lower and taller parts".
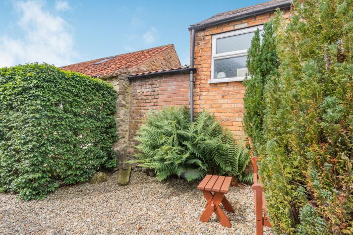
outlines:
[{"label": "whole joined brick and stone buildings, both lower and taller parts", "polygon": [[62,69],[113,84],[119,94],[115,120],[120,140],[113,146],[118,155],[133,155],[133,139],[146,114],[164,106],[187,105],[192,116],[207,109],[241,138],[245,93],[242,81],[247,73],[251,39],[277,8],[287,18],[290,6],[290,0],[274,0],[219,13],[191,25],[190,67],[182,67],[173,45],[165,45]]}]

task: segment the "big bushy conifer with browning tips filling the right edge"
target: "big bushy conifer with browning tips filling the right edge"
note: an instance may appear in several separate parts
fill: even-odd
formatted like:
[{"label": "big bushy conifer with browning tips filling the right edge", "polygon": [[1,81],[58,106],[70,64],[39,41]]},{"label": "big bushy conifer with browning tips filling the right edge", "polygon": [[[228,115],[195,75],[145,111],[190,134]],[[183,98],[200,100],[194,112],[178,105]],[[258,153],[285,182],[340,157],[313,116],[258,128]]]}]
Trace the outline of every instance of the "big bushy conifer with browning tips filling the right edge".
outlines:
[{"label": "big bushy conifer with browning tips filling the right edge", "polygon": [[275,16],[259,170],[285,234],[353,233],[353,3],[293,1]]}]

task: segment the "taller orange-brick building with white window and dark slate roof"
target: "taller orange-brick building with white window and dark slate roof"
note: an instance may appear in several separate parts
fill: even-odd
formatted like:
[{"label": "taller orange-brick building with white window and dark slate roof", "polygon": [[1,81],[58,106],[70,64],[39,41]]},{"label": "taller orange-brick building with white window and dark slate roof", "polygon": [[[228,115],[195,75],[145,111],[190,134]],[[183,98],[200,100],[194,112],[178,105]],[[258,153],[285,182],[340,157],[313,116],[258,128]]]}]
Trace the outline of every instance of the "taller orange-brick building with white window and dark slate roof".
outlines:
[{"label": "taller orange-brick building with white window and dark slate roof", "polygon": [[[289,16],[291,1],[276,0],[217,14],[189,30],[195,35],[194,108],[209,110],[238,138],[243,131],[243,96],[247,50],[257,28],[276,8]],[[261,32],[261,31],[260,31]]]}]

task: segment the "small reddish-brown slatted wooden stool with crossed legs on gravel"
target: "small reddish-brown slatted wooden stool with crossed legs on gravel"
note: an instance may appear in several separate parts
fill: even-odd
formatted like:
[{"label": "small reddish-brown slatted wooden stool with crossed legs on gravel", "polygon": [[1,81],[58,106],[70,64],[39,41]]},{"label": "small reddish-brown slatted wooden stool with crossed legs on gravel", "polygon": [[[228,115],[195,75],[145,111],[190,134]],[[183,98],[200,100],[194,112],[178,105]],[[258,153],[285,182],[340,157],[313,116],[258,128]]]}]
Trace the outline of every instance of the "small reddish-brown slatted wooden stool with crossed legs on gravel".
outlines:
[{"label": "small reddish-brown slatted wooden stool with crossed legs on gravel", "polygon": [[213,212],[215,212],[223,226],[231,227],[229,219],[219,207],[219,204],[222,203],[226,211],[234,213],[233,207],[224,196],[224,194],[228,193],[230,182],[231,177],[207,174],[197,186],[197,189],[202,190],[207,201],[206,209],[200,217],[201,221],[208,222]]}]

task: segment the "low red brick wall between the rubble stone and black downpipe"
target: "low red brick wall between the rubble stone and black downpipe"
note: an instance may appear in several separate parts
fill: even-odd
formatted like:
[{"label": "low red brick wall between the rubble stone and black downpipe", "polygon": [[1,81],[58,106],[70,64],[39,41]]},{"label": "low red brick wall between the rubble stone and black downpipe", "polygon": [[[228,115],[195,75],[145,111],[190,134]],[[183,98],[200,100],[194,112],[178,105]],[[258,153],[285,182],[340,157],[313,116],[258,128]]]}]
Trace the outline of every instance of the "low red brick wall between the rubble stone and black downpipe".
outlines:
[{"label": "low red brick wall between the rubble stone and black downpipe", "polygon": [[130,82],[129,149],[133,155],[134,137],[152,109],[167,106],[189,106],[190,74],[171,74],[150,78],[133,78]]}]

